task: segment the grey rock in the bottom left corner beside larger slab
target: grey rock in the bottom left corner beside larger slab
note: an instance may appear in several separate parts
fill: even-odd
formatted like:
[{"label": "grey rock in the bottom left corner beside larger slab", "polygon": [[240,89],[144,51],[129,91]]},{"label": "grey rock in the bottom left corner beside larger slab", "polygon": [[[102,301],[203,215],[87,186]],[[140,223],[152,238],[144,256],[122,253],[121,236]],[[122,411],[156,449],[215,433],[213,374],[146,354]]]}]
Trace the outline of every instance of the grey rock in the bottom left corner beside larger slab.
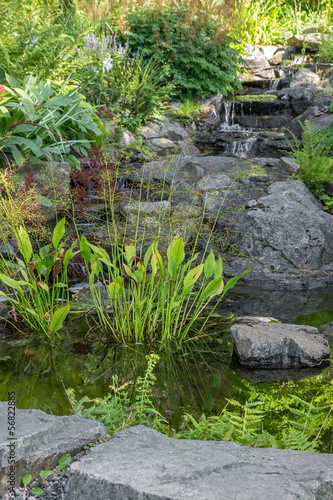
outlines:
[{"label": "grey rock in the bottom left corner beside larger slab", "polygon": [[15,409],[14,440],[8,433],[8,403],[0,402],[0,495],[7,491],[11,450],[19,486],[25,473],[34,478],[43,469],[53,469],[62,455],[75,454],[105,434],[103,424],[77,415],[56,417],[40,410]]}]

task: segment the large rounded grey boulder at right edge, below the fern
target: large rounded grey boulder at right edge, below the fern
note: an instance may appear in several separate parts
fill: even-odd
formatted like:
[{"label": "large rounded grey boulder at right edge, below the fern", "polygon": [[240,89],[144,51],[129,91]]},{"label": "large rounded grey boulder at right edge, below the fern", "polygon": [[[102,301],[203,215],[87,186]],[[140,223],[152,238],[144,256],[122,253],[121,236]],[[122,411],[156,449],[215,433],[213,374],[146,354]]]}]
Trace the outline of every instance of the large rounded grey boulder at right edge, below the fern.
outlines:
[{"label": "large rounded grey boulder at right edge, below the fern", "polygon": [[240,252],[275,272],[311,271],[331,264],[333,216],[301,181],[275,182],[248,210],[239,234]]}]

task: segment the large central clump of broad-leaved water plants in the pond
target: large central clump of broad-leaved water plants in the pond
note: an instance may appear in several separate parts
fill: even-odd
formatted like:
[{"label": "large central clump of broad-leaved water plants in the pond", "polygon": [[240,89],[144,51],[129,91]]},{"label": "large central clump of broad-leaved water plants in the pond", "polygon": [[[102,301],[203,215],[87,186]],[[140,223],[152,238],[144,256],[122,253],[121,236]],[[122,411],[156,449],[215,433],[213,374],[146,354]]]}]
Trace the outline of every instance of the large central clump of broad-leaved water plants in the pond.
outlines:
[{"label": "large central clump of broad-leaved water plants in the pond", "polygon": [[[124,254],[111,261],[104,249],[91,245],[84,236],[80,250],[99,321],[114,340],[123,344],[158,339],[180,345],[190,330],[199,335],[227,290],[248,272],[224,285],[222,259],[215,260],[212,252],[191,269],[198,254],[185,263],[184,241],[179,237],[169,244],[166,260],[158,251],[157,241],[143,259],[136,255],[135,245],[126,245]],[[107,280],[103,266],[108,271]],[[107,292],[110,313],[103,306],[102,288],[96,283],[102,283]],[[195,322],[214,298],[214,308],[196,327]]]}]

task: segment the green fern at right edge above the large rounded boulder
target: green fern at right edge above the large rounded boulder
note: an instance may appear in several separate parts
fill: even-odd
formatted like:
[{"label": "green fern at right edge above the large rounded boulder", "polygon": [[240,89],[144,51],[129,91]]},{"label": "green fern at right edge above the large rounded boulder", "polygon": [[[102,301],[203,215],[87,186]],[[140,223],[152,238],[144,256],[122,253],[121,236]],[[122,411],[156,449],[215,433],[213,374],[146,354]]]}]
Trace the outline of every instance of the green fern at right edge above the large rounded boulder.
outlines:
[{"label": "green fern at right edge above the large rounded boulder", "polygon": [[291,153],[288,154],[299,165],[297,179],[313,189],[333,180],[333,158],[331,155],[333,134],[330,131],[316,130],[309,120],[306,120],[304,125],[302,123],[300,125],[303,130],[303,147],[299,147],[297,137],[289,131],[296,147],[291,141],[288,141],[291,148]]}]

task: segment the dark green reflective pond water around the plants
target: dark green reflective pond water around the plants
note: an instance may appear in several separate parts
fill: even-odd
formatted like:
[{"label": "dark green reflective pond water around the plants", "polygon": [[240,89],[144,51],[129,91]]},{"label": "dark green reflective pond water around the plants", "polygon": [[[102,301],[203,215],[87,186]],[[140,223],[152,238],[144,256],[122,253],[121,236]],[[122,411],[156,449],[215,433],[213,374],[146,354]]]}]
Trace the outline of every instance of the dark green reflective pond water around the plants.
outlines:
[{"label": "dark green reflective pond water around the plants", "polygon": [[[218,312],[270,316],[320,327],[333,321],[332,298],[331,289],[266,293],[238,288],[227,295]],[[219,414],[227,399],[244,403],[254,393],[272,409],[286,408],[286,401],[292,403],[291,395],[310,401],[322,394],[323,404],[332,404],[332,366],[283,372],[244,370],[233,358],[229,327],[229,321],[213,318],[202,342],[174,350],[160,344],[100,347],[87,337],[89,325],[84,317],[69,323],[57,346],[37,344],[33,337],[22,338],[7,329],[0,337],[0,400],[7,399],[8,391],[15,391],[19,408],[66,415],[70,404],[64,387],[73,388],[77,399],[102,397],[110,392],[113,375],[120,383],[132,382],[129,392],[133,395],[135,380],[146,368],[145,355],[155,352],[160,362],[155,370],[154,405],[176,431],[186,413],[195,418],[203,413]],[[272,428],[286,415],[274,411]],[[333,428],[325,431],[324,445],[325,451],[332,451]]]}]

